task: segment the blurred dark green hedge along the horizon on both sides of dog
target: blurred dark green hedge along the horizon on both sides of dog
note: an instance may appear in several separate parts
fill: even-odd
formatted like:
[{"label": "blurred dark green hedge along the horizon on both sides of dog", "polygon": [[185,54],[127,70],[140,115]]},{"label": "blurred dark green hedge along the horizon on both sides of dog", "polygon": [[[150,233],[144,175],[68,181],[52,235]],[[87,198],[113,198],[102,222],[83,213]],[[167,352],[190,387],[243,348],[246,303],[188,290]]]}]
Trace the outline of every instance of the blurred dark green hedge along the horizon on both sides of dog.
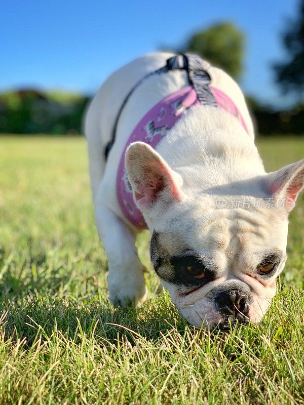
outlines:
[{"label": "blurred dark green hedge along the horizon on both sides of dog", "polygon": [[[81,134],[82,117],[90,98],[69,93],[19,90],[0,94],[0,133]],[[261,135],[303,134],[304,106],[275,111],[247,97]]]}]

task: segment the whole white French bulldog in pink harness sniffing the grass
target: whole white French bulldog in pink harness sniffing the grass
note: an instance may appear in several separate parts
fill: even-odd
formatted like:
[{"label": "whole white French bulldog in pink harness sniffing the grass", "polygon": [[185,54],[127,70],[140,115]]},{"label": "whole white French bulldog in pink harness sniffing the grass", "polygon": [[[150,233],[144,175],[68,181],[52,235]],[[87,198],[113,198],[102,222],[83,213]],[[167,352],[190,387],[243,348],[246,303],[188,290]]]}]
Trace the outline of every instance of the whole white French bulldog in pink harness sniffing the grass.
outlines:
[{"label": "whole white French bulldog in pink harness sniffing the grass", "polygon": [[144,56],[106,80],[85,133],[111,302],[146,299],[135,236],[147,224],[151,263],[189,323],[259,321],[286,261],[304,159],[265,173],[234,80],[195,55]]}]

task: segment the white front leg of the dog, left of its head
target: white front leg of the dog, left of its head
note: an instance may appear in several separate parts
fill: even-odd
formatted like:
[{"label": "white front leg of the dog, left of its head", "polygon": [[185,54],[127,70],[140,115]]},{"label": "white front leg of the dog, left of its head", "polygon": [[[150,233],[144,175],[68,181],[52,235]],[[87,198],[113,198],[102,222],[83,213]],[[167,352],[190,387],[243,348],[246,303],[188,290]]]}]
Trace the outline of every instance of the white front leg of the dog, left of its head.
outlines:
[{"label": "white front leg of the dog, left of its head", "polygon": [[108,290],[113,305],[137,306],[147,289],[135,247],[135,235],[109,208],[95,207],[95,221],[109,262]]}]

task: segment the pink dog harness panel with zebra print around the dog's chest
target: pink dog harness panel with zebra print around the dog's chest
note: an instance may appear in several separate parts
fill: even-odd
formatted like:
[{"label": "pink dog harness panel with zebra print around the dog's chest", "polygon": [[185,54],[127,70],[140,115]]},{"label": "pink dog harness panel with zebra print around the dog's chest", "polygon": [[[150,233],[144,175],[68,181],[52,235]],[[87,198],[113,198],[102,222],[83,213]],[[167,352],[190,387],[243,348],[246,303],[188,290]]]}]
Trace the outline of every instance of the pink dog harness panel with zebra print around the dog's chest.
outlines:
[{"label": "pink dog harness panel with zebra print around the dog's chest", "polygon": [[[214,97],[217,107],[234,115],[248,133],[242,114],[231,98],[221,90],[212,86],[209,86],[209,89]],[[189,107],[198,105],[201,105],[201,102],[198,98],[197,91],[192,86],[185,87],[171,94],[156,104],[144,115],[125,145],[117,173],[117,198],[124,215],[137,228],[145,229],[147,226],[133,199],[132,187],[125,169],[126,150],[130,143],[137,141],[148,143],[155,148],[163,137],[166,136],[167,132],[174,126],[176,121],[182,116],[183,112]]]}]

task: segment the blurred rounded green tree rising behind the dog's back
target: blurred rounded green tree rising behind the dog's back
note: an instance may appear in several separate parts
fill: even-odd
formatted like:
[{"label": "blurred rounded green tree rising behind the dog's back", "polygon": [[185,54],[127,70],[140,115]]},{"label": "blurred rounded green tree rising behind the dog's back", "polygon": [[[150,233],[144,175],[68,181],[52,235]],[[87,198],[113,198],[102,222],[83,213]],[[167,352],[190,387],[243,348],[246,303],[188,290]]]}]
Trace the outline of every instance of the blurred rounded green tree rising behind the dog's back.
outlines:
[{"label": "blurred rounded green tree rising behind the dog's back", "polygon": [[238,78],[243,70],[245,36],[232,23],[218,23],[189,38],[183,52],[193,52]]}]

